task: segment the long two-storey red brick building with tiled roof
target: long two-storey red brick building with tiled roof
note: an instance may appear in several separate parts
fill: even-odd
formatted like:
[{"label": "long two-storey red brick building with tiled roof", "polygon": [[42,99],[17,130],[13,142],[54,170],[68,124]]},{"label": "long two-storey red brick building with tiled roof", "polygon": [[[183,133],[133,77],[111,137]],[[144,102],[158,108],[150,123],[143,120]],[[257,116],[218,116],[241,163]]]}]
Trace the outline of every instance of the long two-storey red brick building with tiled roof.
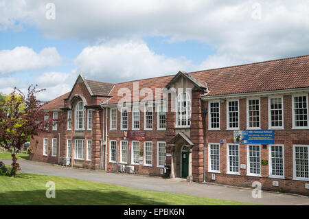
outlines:
[{"label": "long two-storey red brick building with tiled roof", "polygon": [[309,194],[309,56],[111,84],[79,76],[32,159]]}]

